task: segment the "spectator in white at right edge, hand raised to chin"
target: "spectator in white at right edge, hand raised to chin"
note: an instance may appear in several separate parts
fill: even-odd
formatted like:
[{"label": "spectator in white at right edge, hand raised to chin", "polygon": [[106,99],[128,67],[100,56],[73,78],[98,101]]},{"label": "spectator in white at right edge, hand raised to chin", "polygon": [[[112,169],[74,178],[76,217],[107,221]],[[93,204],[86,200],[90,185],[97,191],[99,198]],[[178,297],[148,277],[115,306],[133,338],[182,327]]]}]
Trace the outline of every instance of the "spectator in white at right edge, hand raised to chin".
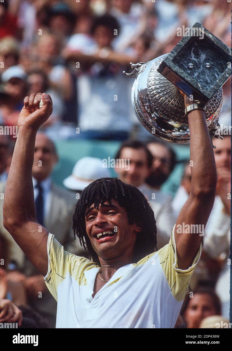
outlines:
[{"label": "spectator in white at right edge, hand raised to chin", "polygon": [[221,257],[223,267],[216,284],[224,317],[229,318],[230,306],[230,194],[231,194],[231,137],[213,139],[218,181],[214,206],[206,225],[204,251],[213,259]]}]

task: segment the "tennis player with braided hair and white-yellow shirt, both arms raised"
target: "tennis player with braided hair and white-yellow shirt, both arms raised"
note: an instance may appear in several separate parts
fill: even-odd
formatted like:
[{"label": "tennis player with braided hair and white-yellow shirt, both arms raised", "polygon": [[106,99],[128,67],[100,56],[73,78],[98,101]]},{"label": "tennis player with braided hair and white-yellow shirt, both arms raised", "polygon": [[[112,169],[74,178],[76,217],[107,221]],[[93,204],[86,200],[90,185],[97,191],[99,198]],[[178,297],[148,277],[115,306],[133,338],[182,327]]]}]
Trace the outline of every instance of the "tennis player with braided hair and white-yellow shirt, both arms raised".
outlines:
[{"label": "tennis player with braided hair and white-yellow shirt, both arms raised", "polygon": [[[37,223],[32,183],[35,136],[52,113],[50,96],[42,94],[41,107],[40,96],[26,97],[19,116],[4,226],[57,300],[56,327],[173,328],[202,250],[202,231],[180,228],[206,225],[216,189],[204,111],[188,114],[191,193],[169,244],[154,251],[155,218],[137,188],[102,178],[83,191],[73,216],[74,233],[89,251],[89,260],[64,251],[54,235]],[[183,96],[185,106],[191,105]]]}]

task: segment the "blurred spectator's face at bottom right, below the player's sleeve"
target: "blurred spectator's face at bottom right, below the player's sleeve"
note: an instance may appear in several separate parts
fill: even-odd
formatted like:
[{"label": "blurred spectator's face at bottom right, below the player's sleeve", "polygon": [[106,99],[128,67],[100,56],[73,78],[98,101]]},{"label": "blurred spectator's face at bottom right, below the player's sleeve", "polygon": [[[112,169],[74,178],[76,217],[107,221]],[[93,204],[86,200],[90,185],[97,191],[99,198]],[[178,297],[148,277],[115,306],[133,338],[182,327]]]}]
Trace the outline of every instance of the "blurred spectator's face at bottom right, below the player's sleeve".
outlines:
[{"label": "blurred spectator's face at bottom right, below the player's sleeve", "polygon": [[199,328],[200,322],[217,314],[212,298],[208,294],[194,294],[184,313],[187,328]]}]

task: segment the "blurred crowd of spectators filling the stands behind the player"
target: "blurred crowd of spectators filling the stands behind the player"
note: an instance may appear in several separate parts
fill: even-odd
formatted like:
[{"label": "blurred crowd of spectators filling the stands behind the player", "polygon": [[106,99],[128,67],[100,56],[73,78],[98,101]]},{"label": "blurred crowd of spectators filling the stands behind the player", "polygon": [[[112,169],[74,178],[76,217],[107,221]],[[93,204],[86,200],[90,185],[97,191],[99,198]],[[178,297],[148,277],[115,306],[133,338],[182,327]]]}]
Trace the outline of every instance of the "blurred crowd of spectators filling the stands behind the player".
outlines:
[{"label": "blurred crowd of spectators filling the stands behind the player", "polygon": [[[59,162],[55,145],[62,139],[121,141],[115,159],[129,159],[130,167],[116,167],[117,177],[136,186],[149,201],[157,224],[158,244],[154,250],[168,244],[190,194],[190,163],[186,160],[172,198],[162,187],[177,164],[176,154],[137,121],[130,97],[133,80],[122,71],[131,72],[130,62],[147,62],[170,52],[180,40],[177,28],[191,27],[195,22],[231,46],[230,21],[231,3],[226,0],[0,2],[0,125],[17,126],[26,95],[51,95],[53,113],[36,136],[34,197],[38,222],[67,251],[88,257],[74,240],[74,207],[84,187],[110,174],[109,168],[102,167],[101,159],[87,154],[77,160],[63,187],[57,186],[51,175]],[[230,126],[231,79],[223,92],[220,123]],[[15,140],[12,135],[0,135],[0,323],[18,321],[25,328],[54,327],[56,301],[2,224]],[[228,322],[230,135],[214,139],[214,145],[216,197],[205,228],[202,257],[177,328],[212,328],[221,320]]]}]

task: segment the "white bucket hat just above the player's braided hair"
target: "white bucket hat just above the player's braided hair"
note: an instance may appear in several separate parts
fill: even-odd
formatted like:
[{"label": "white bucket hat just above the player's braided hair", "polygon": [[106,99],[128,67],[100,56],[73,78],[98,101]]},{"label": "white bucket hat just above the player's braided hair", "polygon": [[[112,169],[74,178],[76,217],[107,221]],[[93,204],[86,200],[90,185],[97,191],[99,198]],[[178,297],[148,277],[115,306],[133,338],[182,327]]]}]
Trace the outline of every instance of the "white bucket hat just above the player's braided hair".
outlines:
[{"label": "white bucket hat just above the player's braided hair", "polygon": [[70,190],[84,190],[94,180],[110,177],[108,168],[96,157],[83,157],[75,164],[72,174],[63,180],[63,185]]}]

